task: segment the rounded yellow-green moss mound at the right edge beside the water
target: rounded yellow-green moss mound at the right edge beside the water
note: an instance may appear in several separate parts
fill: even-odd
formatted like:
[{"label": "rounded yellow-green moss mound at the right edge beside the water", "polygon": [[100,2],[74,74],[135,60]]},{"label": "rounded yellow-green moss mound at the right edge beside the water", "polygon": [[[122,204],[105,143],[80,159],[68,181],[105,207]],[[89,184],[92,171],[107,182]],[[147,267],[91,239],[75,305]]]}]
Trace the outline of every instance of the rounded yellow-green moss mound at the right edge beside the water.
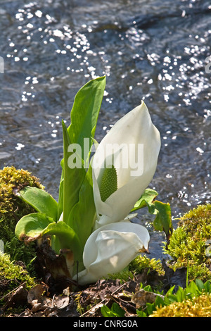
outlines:
[{"label": "rounded yellow-green moss mound at the right edge beside the water", "polygon": [[206,254],[211,239],[211,205],[201,205],[186,213],[178,223],[165,252],[173,258],[170,267],[188,268],[188,280],[211,279],[210,254]]}]

